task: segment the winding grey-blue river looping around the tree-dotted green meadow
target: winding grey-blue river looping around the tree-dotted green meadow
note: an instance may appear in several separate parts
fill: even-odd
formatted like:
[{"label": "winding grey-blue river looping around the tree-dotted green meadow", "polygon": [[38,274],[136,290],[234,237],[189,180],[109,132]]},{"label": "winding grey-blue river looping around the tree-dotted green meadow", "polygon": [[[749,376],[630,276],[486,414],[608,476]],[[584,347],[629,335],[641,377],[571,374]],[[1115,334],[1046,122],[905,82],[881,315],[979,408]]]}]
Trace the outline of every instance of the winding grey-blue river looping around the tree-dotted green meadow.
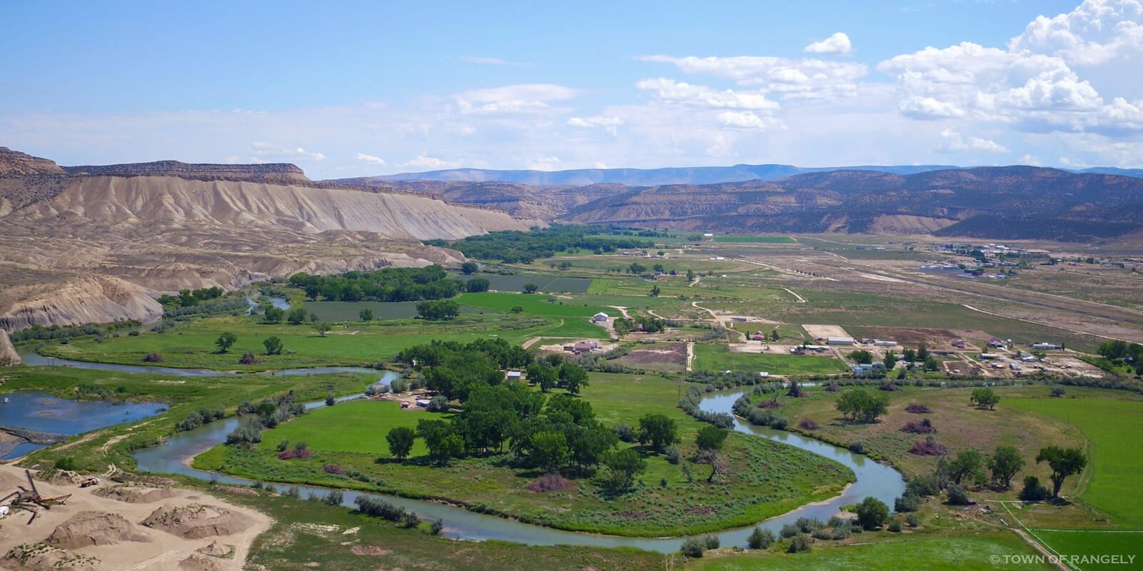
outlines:
[{"label": "winding grey-blue river looping around the tree-dotted green meadow", "polygon": [[[46,357],[35,355],[34,353],[21,355],[24,357],[26,364],[49,364]],[[71,367],[82,367],[86,369],[105,369],[105,370],[117,370],[123,372],[161,372],[165,375],[183,375],[183,376],[219,376],[219,375],[235,375],[232,372],[222,371],[198,371],[187,369],[169,369],[169,368],[152,368],[152,367],[137,367],[137,365],[119,365],[119,364],[106,364],[106,363],[86,363],[78,361],[65,361],[65,360],[53,360],[54,364],[64,364]],[[368,372],[377,373],[378,371],[374,369],[361,369],[361,368],[347,368],[347,367],[328,367],[321,369],[294,369],[289,371],[277,371],[278,375],[314,375],[318,372]],[[381,381],[389,383],[397,378],[397,373],[391,371],[384,371]],[[734,401],[743,394],[743,391],[730,391],[722,393],[714,393],[706,396],[702,401],[702,409],[711,412],[730,412]],[[344,397],[355,399],[360,395],[351,395]],[[322,402],[306,403],[306,408],[315,409],[325,405]],[[226,435],[238,426],[237,418],[227,418],[223,421],[211,423],[202,427],[195,428],[193,431],[183,432],[170,436],[163,444],[145,450],[139,450],[135,452],[135,459],[138,463],[138,469],[141,472],[150,472],[154,474],[182,474],[189,477],[215,481],[225,484],[235,485],[249,485],[254,482],[250,480],[229,476],[225,474],[209,473],[205,471],[199,471],[191,468],[184,464],[189,458],[209,450],[211,447],[219,444],[226,440]],[[734,429],[743,432],[746,434],[753,434],[759,437],[774,440],[797,447],[804,450],[808,450],[820,456],[831,458],[838,463],[849,467],[856,475],[856,482],[850,485],[844,493],[832,498],[826,501],[810,504],[802,506],[798,509],[789,512],[786,514],[772,517],[761,522],[759,525],[762,528],[772,529],[775,532],[784,524],[792,523],[799,517],[818,517],[822,520],[829,518],[834,515],[841,506],[849,504],[857,504],[868,496],[885,501],[888,505],[893,505],[893,499],[901,496],[904,491],[904,480],[901,474],[889,466],[878,464],[870,458],[861,455],[855,455],[846,449],[838,448],[824,442],[820,442],[813,439],[808,439],[798,434],[792,434],[782,431],[774,431],[770,428],[762,428],[757,426],[751,426],[738,419],[735,419]],[[281,484],[274,484],[281,488]],[[298,486],[303,497],[310,493],[325,494],[328,489],[315,488],[315,486]],[[352,490],[344,491],[343,504],[346,506],[353,506],[353,500],[360,496],[361,492],[355,492]],[[541,525],[533,525],[528,523],[522,523],[513,520],[506,520],[503,517],[478,514],[475,512],[470,512],[467,509],[454,506],[447,506],[443,504],[423,501],[416,499],[400,498],[386,496],[386,500],[392,504],[405,507],[406,509],[416,512],[423,518],[441,520],[445,524],[443,536],[454,539],[466,539],[466,540],[504,540],[513,541],[526,545],[582,545],[582,546],[596,546],[596,547],[637,547],[647,550],[671,553],[679,548],[684,538],[626,538],[626,537],[615,537],[615,536],[598,536],[592,533],[581,533],[574,531],[563,531],[551,528],[544,528]],[[753,525],[748,528],[740,528],[734,530],[728,530],[718,533],[718,537],[724,546],[744,546],[746,544],[746,537],[750,534]]]}]

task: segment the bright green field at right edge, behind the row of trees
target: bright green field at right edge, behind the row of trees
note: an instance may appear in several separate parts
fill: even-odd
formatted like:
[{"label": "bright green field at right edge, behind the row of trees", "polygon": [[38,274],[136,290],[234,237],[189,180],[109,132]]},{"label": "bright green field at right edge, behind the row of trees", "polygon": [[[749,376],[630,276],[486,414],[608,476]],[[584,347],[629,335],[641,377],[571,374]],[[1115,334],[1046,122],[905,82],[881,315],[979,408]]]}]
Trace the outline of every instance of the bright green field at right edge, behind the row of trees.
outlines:
[{"label": "bright green field at right edge, behind the row of trees", "polygon": [[1036,412],[1079,427],[1090,442],[1086,485],[1079,499],[1121,525],[1143,529],[1143,496],[1137,493],[1143,440],[1143,400],[1121,393],[1079,393],[1074,399],[1012,399],[1001,407]]}]

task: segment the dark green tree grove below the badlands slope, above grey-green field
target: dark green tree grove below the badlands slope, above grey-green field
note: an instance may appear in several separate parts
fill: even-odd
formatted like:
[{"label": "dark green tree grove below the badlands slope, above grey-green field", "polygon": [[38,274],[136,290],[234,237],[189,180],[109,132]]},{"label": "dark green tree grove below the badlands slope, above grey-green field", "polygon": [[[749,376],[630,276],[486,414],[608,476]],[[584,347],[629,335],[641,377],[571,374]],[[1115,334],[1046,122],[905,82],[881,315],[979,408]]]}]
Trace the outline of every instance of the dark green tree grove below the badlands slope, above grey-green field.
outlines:
[{"label": "dark green tree grove below the badlands slope, above grey-green field", "polygon": [[290,286],[302,288],[310,299],[321,296],[339,301],[415,301],[456,296],[462,284],[450,280],[437,264],[426,267],[386,267],[376,272],[341,275],[294,274]]}]

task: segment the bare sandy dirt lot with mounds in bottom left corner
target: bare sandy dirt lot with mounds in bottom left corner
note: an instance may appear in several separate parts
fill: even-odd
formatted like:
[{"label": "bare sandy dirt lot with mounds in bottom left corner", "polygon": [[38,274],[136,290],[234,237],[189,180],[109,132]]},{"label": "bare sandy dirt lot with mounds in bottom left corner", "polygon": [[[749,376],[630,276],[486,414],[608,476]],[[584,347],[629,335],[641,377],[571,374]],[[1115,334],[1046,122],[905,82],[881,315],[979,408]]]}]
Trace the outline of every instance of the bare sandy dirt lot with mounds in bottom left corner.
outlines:
[{"label": "bare sandy dirt lot with mounds in bottom left corner", "polygon": [[[0,466],[0,490],[7,493],[16,485],[27,486],[24,471]],[[122,485],[113,482],[35,485],[45,497],[72,496],[40,509],[31,524],[25,524],[30,514],[16,509],[0,520],[0,569],[47,571],[59,561],[81,560],[80,566],[67,569],[239,571],[254,538],[271,524],[261,512],[193,490],[134,494],[109,492]],[[24,544],[43,545],[17,547]]]}]

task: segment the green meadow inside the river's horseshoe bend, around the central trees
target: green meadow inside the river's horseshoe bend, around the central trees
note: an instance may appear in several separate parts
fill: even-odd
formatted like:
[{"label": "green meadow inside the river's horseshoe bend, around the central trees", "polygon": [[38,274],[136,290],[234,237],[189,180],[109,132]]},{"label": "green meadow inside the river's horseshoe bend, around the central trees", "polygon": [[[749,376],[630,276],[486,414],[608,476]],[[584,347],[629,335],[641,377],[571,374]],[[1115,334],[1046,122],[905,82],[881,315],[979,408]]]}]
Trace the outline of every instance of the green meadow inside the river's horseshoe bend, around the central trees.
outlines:
[{"label": "green meadow inside the river's horseshoe bend, around the central trees", "polygon": [[[527,485],[539,476],[533,469],[517,468],[511,455],[490,455],[455,460],[448,467],[432,467],[422,456],[406,463],[376,463],[377,447],[369,437],[343,442],[336,435],[345,426],[383,426],[393,423],[382,419],[384,409],[370,409],[362,403],[354,409],[353,423],[337,417],[344,404],[334,407],[323,417],[309,417],[296,437],[306,439],[314,455],[305,460],[278,460],[273,445],[286,434],[280,428],[266,435],[266,444],[258,449],[216,447],[199,456],[194,465],[203,469],[222,469],[235,475],[267,482],[312,483],[385,491],[408,497],[447,498],[461,505],[475,507],[521,521],[561,529],[613,533],[623,536],[679,536],[745,525],[785,513],[807,501],[837,494],[853,474],[831,460],[769,440],[740,433],[729,436],[724,453],[729,471],[724,481],[708,483],[708,465],[693,460],[695,434],[702,426],[685,416],[678,408],[680,385],[658,376],[592,373],[591,385],[583,397],[591,402],[596,415],[606,426],[624,423],[637,425],[644,415],[661,412],[679,424],[684,460],[672,465],[663,456],[644,452],[647,472],[636,488],[620,497],[607,499],[601,483],[594,476],[580,476],[574,489],[537,493]],[[419,412],[405,412],[417,418]],[[326,431],[328,437],[311,437]],[[400,419],[400,421],[405,421]],[[371,431],[373,439],[383,442],[381,429]],[[628,444],[622,444],[628,445]],[[325,448],[322,448],[325,447]],[[345,450],[359,451],[335,451]],[[323,466],[337,464],[345,472],[363,474],[363,481],[327,474]],[[694,481],[682,471],[688,467]],[[663,485],[662,482],[666,484]],[[378,483],[379,482],[379,483]],[[713,506],[711,510],[695,510],[694,506]],[[629,514],[640,514],[630,517]]]}]

